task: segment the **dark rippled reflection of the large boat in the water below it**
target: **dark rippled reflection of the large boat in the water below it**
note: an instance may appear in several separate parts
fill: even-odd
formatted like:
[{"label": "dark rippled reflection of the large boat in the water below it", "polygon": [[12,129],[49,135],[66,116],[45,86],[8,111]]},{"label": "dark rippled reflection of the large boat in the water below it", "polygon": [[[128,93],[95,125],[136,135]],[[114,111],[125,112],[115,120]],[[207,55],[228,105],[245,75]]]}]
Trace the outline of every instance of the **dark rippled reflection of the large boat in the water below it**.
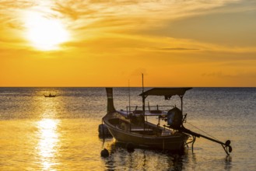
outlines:
[{"label": "dark rippled reflection of the large boat in the water below it", "polygon": [[109,170],[181,170],[184,168],[184,160],[191,165],[196,164],[195,156],[193,160],[188,161],[193,154],[188,149],[183,152],[163,152],[149,148],[136,148],[135,152],[128,152],[124,143],[113,142],[109,147],[110,156],[104,159],[105,166]]}]

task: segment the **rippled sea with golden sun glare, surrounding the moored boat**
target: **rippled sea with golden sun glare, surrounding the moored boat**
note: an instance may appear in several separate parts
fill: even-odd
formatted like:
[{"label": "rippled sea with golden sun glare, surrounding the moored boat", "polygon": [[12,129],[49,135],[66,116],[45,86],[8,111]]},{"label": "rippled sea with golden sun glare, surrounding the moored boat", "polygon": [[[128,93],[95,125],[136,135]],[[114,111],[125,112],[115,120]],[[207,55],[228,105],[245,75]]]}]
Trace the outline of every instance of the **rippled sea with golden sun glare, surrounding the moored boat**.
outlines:
[{"label": "rippled sea with golden sun glare, surrounding the moored boat", "polygon": [[[145,91],[150,88],[145,88]],[[142,106],[142,88],[117,87],[114,106]],[[57,95],[46,98],[49,93]],[[255,170],[256,88],[193,88],[183,97],[184,126],[233,151],[196,138],[184,152],[135,148],[100,138],[107,110],[105,88],[0,88],[0,170]],[[179,96],[148,96],[146,107],[181,107]],[[151,118],[151,120],[155,120]],[[106,148],[106,158],[100,152]]]}]

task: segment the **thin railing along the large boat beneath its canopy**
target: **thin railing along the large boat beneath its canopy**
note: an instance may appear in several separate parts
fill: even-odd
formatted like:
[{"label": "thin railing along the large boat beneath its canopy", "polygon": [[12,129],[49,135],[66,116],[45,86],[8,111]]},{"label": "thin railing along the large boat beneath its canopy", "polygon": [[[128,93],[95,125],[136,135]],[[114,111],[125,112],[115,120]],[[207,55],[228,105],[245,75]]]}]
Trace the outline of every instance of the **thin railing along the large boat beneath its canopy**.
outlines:
[{"label": "thin railing along the large boat beneath its canopy", "polygon": [[[169,110],[173,109],[175,106],[171,105],[156,105],[156,106],[145,106],[145,113],[167,113]],[[134,114],[142,114],[143,106],[126,106],[126,112]]]}]

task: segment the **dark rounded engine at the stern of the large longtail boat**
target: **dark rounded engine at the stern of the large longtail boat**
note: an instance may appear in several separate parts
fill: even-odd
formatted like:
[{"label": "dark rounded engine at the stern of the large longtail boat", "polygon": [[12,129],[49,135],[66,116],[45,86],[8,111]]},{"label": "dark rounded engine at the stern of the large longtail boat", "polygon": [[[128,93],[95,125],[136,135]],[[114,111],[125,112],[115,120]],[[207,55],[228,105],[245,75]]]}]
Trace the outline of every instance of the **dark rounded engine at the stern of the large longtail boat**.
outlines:
[{"label": "dark rounded engine at the stern of the large longtail boat", "polygon": [[181,128],[182,125],[182,113],[181,110],[177,107],[174,107],[174,109],[171,109],[167,113],[167,124],[174,129]]}]

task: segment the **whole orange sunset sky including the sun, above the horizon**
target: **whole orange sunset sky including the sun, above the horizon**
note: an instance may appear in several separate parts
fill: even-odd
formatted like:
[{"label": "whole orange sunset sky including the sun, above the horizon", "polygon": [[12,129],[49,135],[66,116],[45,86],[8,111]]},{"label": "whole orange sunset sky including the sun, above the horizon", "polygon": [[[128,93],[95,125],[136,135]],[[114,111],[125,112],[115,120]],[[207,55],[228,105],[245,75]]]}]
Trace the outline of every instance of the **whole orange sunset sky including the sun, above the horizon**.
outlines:
[{"label": "whole orange sunset sky including the sun, above the horizon", "polygon": [[0,86],[256,86],[254,0],[2,0]]}]

